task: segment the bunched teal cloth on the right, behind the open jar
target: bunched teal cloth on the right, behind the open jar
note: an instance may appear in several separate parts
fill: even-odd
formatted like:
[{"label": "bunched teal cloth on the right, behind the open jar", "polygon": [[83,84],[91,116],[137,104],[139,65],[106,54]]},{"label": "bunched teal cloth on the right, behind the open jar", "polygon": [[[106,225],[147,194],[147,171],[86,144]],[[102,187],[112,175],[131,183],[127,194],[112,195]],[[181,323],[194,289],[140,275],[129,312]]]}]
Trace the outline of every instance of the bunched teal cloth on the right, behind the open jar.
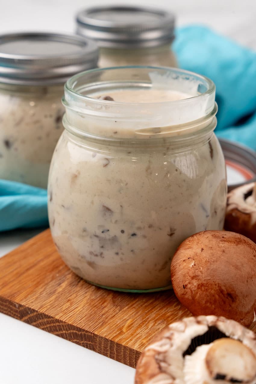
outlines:
[{"label": "bunched teal cloth on the right, behind the open jar", "polygon": [[180,68],[214,81],[217,136],[256,150],[256,52],[204,26],[178,28],[173,50]]}]

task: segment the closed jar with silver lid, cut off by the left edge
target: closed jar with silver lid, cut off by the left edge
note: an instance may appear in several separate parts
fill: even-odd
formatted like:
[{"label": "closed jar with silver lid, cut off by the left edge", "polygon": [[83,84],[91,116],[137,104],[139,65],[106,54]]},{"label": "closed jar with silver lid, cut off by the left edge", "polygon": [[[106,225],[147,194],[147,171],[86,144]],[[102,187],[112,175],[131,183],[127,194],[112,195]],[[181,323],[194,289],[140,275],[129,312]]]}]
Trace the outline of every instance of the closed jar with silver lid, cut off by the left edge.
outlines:
[{"label": "closed jar with silver lid, cut off by the left edge", "polygon": [[0,36],[0,179],[47,187],[63,131],[65,81],[97,66],[97,46],[79,36]]}]

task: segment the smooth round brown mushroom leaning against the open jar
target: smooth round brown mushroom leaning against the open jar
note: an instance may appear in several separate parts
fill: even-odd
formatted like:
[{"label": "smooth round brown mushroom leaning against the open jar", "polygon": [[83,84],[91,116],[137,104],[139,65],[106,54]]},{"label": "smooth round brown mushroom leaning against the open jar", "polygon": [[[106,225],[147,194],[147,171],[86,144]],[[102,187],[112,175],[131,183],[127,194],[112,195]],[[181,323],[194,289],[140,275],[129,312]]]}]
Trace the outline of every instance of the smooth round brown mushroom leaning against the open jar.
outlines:
[{"label": "smooth round brown mushroom leaning against the open jar", "polygon": [[243,235],[203,231],[188,237],[173,257],[171,279],[178,300],[193,315],[253,322],[256,244]]}]

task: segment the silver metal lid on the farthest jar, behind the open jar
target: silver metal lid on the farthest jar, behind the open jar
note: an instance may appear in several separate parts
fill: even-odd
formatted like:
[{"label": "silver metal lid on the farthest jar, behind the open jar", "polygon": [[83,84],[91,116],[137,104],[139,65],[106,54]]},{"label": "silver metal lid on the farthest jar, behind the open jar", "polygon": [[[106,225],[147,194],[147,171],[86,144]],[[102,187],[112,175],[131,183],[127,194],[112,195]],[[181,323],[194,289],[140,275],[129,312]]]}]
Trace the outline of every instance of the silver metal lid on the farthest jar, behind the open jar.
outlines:
[{"label": "silver metal lid on the farthest jar, behind the open jar", "polygon": [[96,40],[100,47],[152,47],[174,38],[174,15],[154,8],[87,8],[76,22],[78,35]]}]

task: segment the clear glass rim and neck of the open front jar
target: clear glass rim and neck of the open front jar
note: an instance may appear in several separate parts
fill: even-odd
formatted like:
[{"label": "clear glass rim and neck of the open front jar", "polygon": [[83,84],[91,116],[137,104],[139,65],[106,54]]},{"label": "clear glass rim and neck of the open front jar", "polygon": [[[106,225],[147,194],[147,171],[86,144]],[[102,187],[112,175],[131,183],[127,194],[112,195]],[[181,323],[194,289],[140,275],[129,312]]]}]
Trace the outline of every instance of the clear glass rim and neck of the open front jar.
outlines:
[{"label": "clear glass rim and neck of the open front jar", "polygon": [[[97,98],[123,89],[174,91],[188,94],[188,98],[145,103]],[[210,79],[186,70],[154,66],[110,67],[76,74],[64,86],[63,105],[71,125],[80,119],[84,131],[102,132],[104,126],[120,137],[184,134],[189,127],[199,130],[201,122],[213,119],[217,111],[215,84]],[[113,130],[113,124],[119,129]]]}]

